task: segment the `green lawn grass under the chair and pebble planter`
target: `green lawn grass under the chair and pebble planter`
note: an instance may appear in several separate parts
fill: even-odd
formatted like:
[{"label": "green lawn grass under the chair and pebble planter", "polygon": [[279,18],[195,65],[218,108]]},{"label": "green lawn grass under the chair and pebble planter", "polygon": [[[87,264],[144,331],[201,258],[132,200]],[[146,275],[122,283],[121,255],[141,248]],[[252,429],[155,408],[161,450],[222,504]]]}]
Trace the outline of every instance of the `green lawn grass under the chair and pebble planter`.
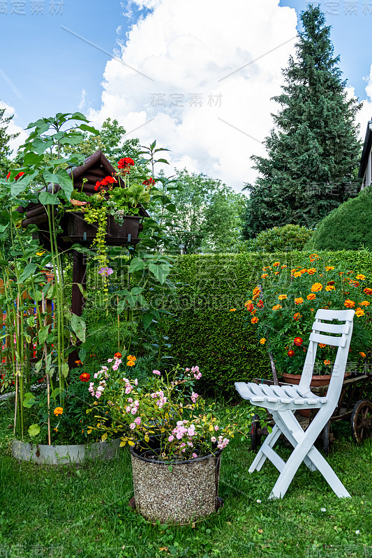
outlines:
[{"label": "green lawn grass under the chair and pebble planter", "polygon": [[[18,463],[9,453],[10,423],[10,409],[2,407],[0,557],[372,557],[372,444],[355,446],[348,429],[338,428],[329,462],[352,499],[338,499],[302,465],[284,499],[267,500],[276,469],[267,464],[248,474],[253,452],[234,439],[222,458],[223,509],[193,527],[165,527],[128,508],[126,449],[111,462],[83,467]],[[279,451],[290,454],[284,444]]]}]

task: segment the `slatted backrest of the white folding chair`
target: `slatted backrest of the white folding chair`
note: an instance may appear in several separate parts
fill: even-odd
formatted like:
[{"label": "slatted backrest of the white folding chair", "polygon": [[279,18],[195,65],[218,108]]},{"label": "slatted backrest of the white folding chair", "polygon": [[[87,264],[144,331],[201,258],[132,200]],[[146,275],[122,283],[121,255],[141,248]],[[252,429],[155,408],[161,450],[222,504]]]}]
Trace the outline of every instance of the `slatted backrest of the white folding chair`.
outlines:
[{"label": "slatted backrest of the white folding chair", "polygon": [[[348,362],[354,315],[354,310],[321,309],[316,312],[313,331],[309,337],[304,369],[302,370],[302,377],[299,382],[300,388],[306,388],[310,385],[318,344],[332,345],[338,347],[338,349],[332,369],[331,382],[327,391],[327,398],[332,398],[335,402],[338,400],[345,375],[346,363]],[[343,323],[329,323],[334,320]]]}]

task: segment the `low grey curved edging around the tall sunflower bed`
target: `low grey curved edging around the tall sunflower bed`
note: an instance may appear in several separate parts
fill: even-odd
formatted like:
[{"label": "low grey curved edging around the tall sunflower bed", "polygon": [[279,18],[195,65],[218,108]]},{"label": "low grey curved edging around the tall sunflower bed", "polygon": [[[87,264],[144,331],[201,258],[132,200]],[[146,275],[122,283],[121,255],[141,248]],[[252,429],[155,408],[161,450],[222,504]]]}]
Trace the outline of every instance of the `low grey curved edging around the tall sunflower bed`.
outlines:
[{"label": "low grey curved edging around the tall sunflower bed", "polygon": [[12,455],[19,461],[32,461],[38,465],[70,465],[70,463],[81,464],[91,459],[108,461],[117,455],[119,446],[120,439],[111,442],[61,446],[28,444],[15,440],[12,444]]}]

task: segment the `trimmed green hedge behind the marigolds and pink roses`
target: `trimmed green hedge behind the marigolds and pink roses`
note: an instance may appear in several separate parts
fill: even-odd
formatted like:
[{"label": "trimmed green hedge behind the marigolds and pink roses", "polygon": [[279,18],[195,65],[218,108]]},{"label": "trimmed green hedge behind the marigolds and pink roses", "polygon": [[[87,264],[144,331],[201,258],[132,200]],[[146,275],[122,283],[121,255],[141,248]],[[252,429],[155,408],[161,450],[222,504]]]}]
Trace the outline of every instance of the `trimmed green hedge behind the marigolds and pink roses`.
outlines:
[{"label": "trimmed green hedge behind the marigolds and pink roses", "polygon": [[[310,252],[186,255],[177,259],[172,280],[179,282],[179,298],[172,310],[178,322],[170,342],[174,361],[198,364],[202,389],[211,395],[234,395],[234,382],[253,377],[270,378],[265,351],[246,323],[244,302],[257,285],[262,267],[281,262],[288,270],[308,258]],[[343,262],[345,269],[363,273],[372,287],[372,254],[318,252],[329,264]],[[230,312],[232,308],[235,311]]]}]

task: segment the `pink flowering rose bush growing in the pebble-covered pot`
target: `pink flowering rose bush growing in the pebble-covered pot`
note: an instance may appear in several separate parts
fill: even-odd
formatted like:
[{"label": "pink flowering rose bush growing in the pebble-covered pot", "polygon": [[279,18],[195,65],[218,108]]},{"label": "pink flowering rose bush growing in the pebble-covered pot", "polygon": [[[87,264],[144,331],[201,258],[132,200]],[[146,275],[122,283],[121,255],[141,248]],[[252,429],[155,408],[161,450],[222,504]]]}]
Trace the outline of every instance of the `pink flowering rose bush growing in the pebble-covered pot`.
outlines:
[{"label": "pink flowering rose bush growing in the pebble-covered pot", "polygon": [[218,414],[215,405],[207,405],[198,394],[202,372],[197,365],[153,370],[146,380],[129,379],[125,371],[121,359],[109,359],[89,386],[97,420],[91,430],[103,431],[103,440],[120,435],[121,446],[148,447],[157,459],[172,461],[223,450],[235,432],[248,436],[251,407]]}]

